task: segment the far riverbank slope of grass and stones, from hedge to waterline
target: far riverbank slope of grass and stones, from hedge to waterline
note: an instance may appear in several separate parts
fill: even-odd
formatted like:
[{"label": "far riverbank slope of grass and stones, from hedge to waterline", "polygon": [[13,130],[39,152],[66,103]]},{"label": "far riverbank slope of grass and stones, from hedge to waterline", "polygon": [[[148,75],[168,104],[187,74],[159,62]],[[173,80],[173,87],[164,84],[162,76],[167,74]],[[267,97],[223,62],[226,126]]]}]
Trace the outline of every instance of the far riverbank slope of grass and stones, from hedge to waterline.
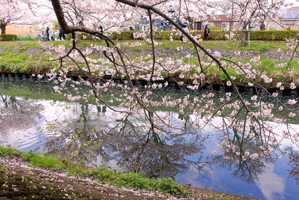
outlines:
[{"label": "far riverbank slope of grass and stones, from hedge to waterline", "polygon": [[[132,42],[132,41],[129,41]],[[144,57],[152,55],[152,49],[149,44],[144,43],[144,41],[138,41],[142,43],[140,46],[123,46],[124,52],[127,56],[132,58]],[[99,46],[106,46],[103,41],[82,41],[78,43],[80,49],[84,50],[86,47],[90,46],[91,43]],[[119,41],[120,44],[125,44],[124,41]],[[165,78],[165,81],[183,81],[189,83],[192,79],[189,79],[190,74],[194,72],[199,73],[196,63],[197,57],[193,47],[188,43],[178,42],[178,41],[159,41],[159,45],[155,48],[155,55],[161,58],[180,58],[183,60],[183,64],[192,63],[194,68],[190,69],[187,72],[178,72],[170,75],[164,73],[162,76]],[[47,42],[47,44],[65,45],[69,46],[70,41],[54,41]],[[251,42],[250,48],[242,47],[237,49],[236,43],[231,43],[229,41],[209,41],[201,43],[205,48],[210,49],[211,52],[219,52],[222,57],[231,59],[234,62],[251,62],[250,59],[256,56],[260,56],[260,61],[253,63],[253,68],[260,71],[260,75],[257,75],[255,82],[259,83],[263,87],[274,87],[277,88],[277,83],[282,82],[284,88],[289,88],[291,82],[295,84],[299,83],[299,64],[294,59],[289,63],[288,67],[275,67],[274,65],[281,62],[288,62],[286,56],[280,55],[278,49],[282,51],[287,50],[285,42]],[[68,47],[67,47],[68,48]],[[67,50],[66,48],[66,50]],[[238,51],[239,53],[235,53]],[[28,74],[46,74],[50,69],[57,69],[58,66],[55,66],[52,61],[41,61],[48,60],[51,55],[45,53],[46,50],[42,48],[39,43],[33,41],[12,41],[12,42],[0,42],[0,72],[4,73],[28,73]],[[90,58],[103,58],[104,56],[101,53],[92,53]],[[208,62],[207,56],[203,58],[202,61]],[[292,76],[287,70],[293,69]],[[213,84],[225,85],[228,81],[228,78],[222,71],[219,71],[217,66],[208,66],[206,69],[206,75]],[[265,72],[267,76],[273,79],[273,82],[267,84],[263,82],[263,79],[260,77],[262,72]],[[183,74],[184,79],[179,79],[179,75]],[[228,69],[228,74],[236,77],[236,82],[240,85],[247,85],[248,79],[244,75],[239,75],[234,69]],[[68,76],[85,76],[83,73],[74,70],[68,73]],[[97,74],[95,74],[97,76]],[[109,77],[108,77],[109,78]],[[118,77],[120,78],[120,77]]]}]

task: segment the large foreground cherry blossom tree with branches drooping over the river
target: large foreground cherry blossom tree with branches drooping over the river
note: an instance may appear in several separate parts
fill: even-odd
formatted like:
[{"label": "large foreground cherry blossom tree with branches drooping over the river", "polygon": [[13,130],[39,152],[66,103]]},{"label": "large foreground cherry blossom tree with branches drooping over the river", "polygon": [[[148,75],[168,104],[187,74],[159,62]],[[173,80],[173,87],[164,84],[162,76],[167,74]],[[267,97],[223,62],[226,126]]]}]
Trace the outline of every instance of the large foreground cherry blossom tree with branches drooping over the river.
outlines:
[{"label": "large foreground cherry blossom tree with branches drooping over the river", "polygon": [[[209,128],[223,136],[222,142],[218,145],[219,150],[214,151],[215,157],[218,155],[240,167],[256,164],[262,170],[263,165],[260,164],[260,160],[268,162],[270,158],[279,159],[281,154],[284,154],[282,149],[280,152],[274,152],[274,149],[280,149],[281,141],[284,139],[289,139],[298,146],[299,133],[289,123],[292,118],[298,117],[297,101],[289,99],[283,102],[277,97],[277,92],[270,93],[263,88],[260,83],[273,83],[273,80],[267,76],[266,71],[254,68],[256,64],[259,64],[260,57],[237,63],[225,58],[220,52],[206,49],[195,39],[200,36],[193,35],[193,31],[188,28],[182,28],[173,18],[173,13],[165,10],[167,3],[176,3],[182,8],[179,11],[182,16],[204,19],[206,17],[204,16],[205,6],[207,7],[205,1],[103,0],[92,2],[92,4],[102,6],[102,9],[92,10],[92,13],[97,16],[103,16],[102,19],[114,18],[115,21],[120,19],[119,23],[122,24],[136,24],[144,17],[148,19],[149,31],[134,33],[135,39],[143,41],[134,40],[122,43],[112,40],[109,32],[96,31],[80,23],[69,26],[65,16],[68,15],[66,14],[69,11],[68,8],[59,0],[51,0],[51,2],[60,26],[66,34],[72,35],[71,47],[40,44],[48,49],[46,53],[52,54],[50,60],[60,68],[59,73],[52,69],[46,76],[57,83],[54,90],[64,94],[68,100],[93,99],[96,105],[106,106],[112,110],[115,117],[138,121],[147,128],[144,133],[147,133],[153,140],[161,138],[160,135],[169,137],[179,135],[184,138],[186,134],[195,134],[202,142],[209,142],[208,135],[202,134],[202,131]],[[79,1],[78,7],[84,6],[84,2]],[[241,7],[243,3],[247,5],[243,7],[244,9]],[[232,13],[238,12],[240,16],[243,16],[241,19],[244,22],[243,27],[246,27],[244,25],[256,17],[257,12],[261,12],[264,8],[263,3],[266,4],[264,1],[227,2],[231,10],[235,10]],[[74,4],[76,5],[77,2]],[[93,8],[92,5],[89,7]],[[80,17],[78,19],[81,20]],[[178,47],[177,50],[189,51],[190,54],[186,56],[186,59],[157,56],[155,50],[158,42],[153,38],[154,30],[157,28],[154,19],[166,20],[184,35],[183,40],[190,45],[190,48]],[[75,42],[76,32],[85,32],[101,38],[106,45],[91,44],[82,50]],[[170,40],[172,40],[172,35],[170,35]],[[288,41],[288,50],[279,49],[280,56],[286,58],[285,61],[273,67],[284,69],[284,73],[289,77],[294,77],[294,81],[290,85],[283,84],[280,80],[275,82],[278,92],[284,88],[295,89],[297,87],[293,69],[286,61],[292,60],[297,55],[298,40],[295,38]],[[151,55],[136,56],[126,51],[127,47],[142,46],[146,43],[152,48]],[[238,56],[240,52],[236,51],[234,54]],[[100,55],[100,57],[96,59],[92,57],[93,55]],[[191,61],[191,58],[196,61]],[[216,66],[225,74],[228,79],[226,84],[234,92],[216,95],[212,80],[207,75],[209,66]],[[73,70],[80,70],[88,79],[71,80],[67,75]],[[229,75],[228,70],[234,70],[248,82],[247,86],[256,93],[251,99],[245,99],[239,92],[235,82],[236,77]],[[175,82],[181,94],[184,95],[183,98],[164,92],[160,100],[154,99],[155,90],[163,92],[163,88],[169,85],[162,76],[165,73]],[[43,76],[38,75],[38,77]],[[140,81],[145,81],[145,86]],[[78,95],[77,87],[81,84],[89,89],[86,94]],[[202,85],[209,85],[211,91],[203,92],[200,96],[194,95]],[[194,92],[190,93],[190,91]],[[273,103],[265,103],[260,91],[266,93]],[[161,108],[169,112],[160,112]],[[173,114],[175,112],[182,117]],[[282,115],[276,115],[277,112]],[[250,144],[255,144],[258,149],[252,149]],[[244,169],[242,173],[245,176],[248,171],[245,168],[242,169]]]}]

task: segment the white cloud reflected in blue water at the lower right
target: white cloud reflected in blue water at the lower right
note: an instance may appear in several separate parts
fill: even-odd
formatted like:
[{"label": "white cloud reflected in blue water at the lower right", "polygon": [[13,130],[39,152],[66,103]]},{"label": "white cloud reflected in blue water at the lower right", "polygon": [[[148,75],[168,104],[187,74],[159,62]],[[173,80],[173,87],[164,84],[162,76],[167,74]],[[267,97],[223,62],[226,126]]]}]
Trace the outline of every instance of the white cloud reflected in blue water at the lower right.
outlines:
[{"label": "white cloud reflected in blue water at the lower right", "polygon": [[273,172],[274,165],[267,167],[269,167],[269,170],[260,177],[260,180],[257,182],[257,187],[260,188],[267,200],[285,199],[283,196],[285,180]]}]

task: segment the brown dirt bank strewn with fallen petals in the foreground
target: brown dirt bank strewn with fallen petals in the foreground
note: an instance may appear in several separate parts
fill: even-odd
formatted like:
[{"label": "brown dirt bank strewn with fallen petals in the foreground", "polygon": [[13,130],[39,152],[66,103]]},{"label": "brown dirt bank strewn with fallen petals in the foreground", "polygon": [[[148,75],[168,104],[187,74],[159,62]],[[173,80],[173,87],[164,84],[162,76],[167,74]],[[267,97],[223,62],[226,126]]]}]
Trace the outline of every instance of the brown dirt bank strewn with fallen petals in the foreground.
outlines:
[{"label": "brown dirt bank strewn with fallen petals in the foreground", "polygon": [[[90,179],[75,178],[62,173],[50,172],[44,169],[28,167],[28,163],[19,158],[0,160],[5,169],[0,174],[0,200],[129,200],[129,199],[190,199],[180,197],[165,197],[159,193],[148,193],[128,189],[118,189],[111,185],[102,185]],[[186,187],[197,195],[197,199],[204,200],[215,197],[231,198],[231,200],[255,200],[248,197],[223,194],[211,190]]]}]

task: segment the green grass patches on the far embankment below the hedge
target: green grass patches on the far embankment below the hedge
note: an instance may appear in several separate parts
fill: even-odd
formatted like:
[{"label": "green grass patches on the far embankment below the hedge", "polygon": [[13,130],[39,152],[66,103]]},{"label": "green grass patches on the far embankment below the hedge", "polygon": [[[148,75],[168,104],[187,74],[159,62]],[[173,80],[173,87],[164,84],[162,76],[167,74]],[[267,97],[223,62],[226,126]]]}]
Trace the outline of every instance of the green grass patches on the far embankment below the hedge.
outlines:
[{"label": "green grass patches on the far embankment below the hedge", "polygon": [[[159,41],[162,44],[157,45],[157,49],[167,49],[170,51],[176,51],[177,47],[182,46],[183,51],[189,50],[191,54],[195,54],[193,50],[190,50],[193,48],[192,45],[188,43],[178,42],[178,41],[167,41],[162,40]],[[54,46],[56,45],[65,45],[69,46],[70,41],[54,41],[54,42],[48,42],[53,43]],[[102,41],[94,41],[92,42],[96,45],[103,45],[106,46],[106,44]],[[120,44],[123,43],[123,41],[119,41]],[[78,46],[81,47],[87,47],[90,46],[91,41],[81,41]],[[295,82],[299,82],[299,64],[297,61],[293,60],[290,62],[289,68],[294,67],[294,74],[295,78],[289,76],[289,74],[286,72],[285,67],[281,68],[275,68],[274,65],[277,64],[278,60],[271,60],[271,59],[265,59],[263,58],[263,55],[265,52],[277,52],[277,49],[281,48],[282,50],[286,50],[286,43],[285,42],[251,42],[250,48],[248,47],[241,47],[239,49],[236,48],[237,43],[230,43],[228,41],[208,41],[208,42],[202,42],[201,43],[205,48],[207,49],[228,49],[233,51],[250,51],[256,56],[261,56],[260,62],[252,64],[253,68],[256,70],[259,70],[260,72],[266,71],[267,75],[274,79],[280,79],[280,81],[283,82],[292,82],[295,79]],[[13,73],[38,73],[39,71],[42,71],[44,69],[49,68],[57,68],[54,64],[52,64],[51,61],[40,61],[39,59],[48,59],[49,55],[46,54],[40,54],[36,53],[35,55],[28,55],[26,53],[27,49],[40,49],[42,52],[45,52],[44,49],[42,49],[39,44],[35,41],[13,41],[13,42],[0,42],[0,48],[4,48],[4,51],[0,52],[0,70],[9,70]],[[139,52],[144,50],[149,50],[151,47],[148,44],[145,44],[143,46],[135,46],[135,47],[127,47],[127,49],[130,49],[132,51],[132,58],[135,58],[139,55]],[[169,56],[165,55],[164,57]],[[236,56],[234,55],[222,55],[225,58],[231,59]],[[91,58],[95,58],[92,57]],[[208,61],[207,58],[204,58],[203,61]],[[233,59],[235,62],[250,62],[250,58],[240,58],[240,59]],[[198,62],[196,59],[191,58],[184,58],[184,63],[190,63],[196,64],[196,67],[198,67]],[[189,76],[193,73],[198,73],[198,69],[194,68],[188,72],[181,72],[184,73],[185,76]],[[247,83],[248,79],[245,78],[244,75],[239,75],[235,72],[234,69],[228,69],[228,73],[231,76],[234,76],[237,78],[237,81],[241,83]],[[221,71],[219,71],[217,66],[209,66],[206,69],[206,74],[210,79],[218,79],[220,82],[225,83],[228,81],[228,78],[225,76],[225,74]],[[178,75],[178,74],[174,74]],[[162,74],[162,76],[165,76],[165,78],[169,77],[167,72]],[[260,82],[261,79],[259,76],[255,79],[256,82]]]}]

